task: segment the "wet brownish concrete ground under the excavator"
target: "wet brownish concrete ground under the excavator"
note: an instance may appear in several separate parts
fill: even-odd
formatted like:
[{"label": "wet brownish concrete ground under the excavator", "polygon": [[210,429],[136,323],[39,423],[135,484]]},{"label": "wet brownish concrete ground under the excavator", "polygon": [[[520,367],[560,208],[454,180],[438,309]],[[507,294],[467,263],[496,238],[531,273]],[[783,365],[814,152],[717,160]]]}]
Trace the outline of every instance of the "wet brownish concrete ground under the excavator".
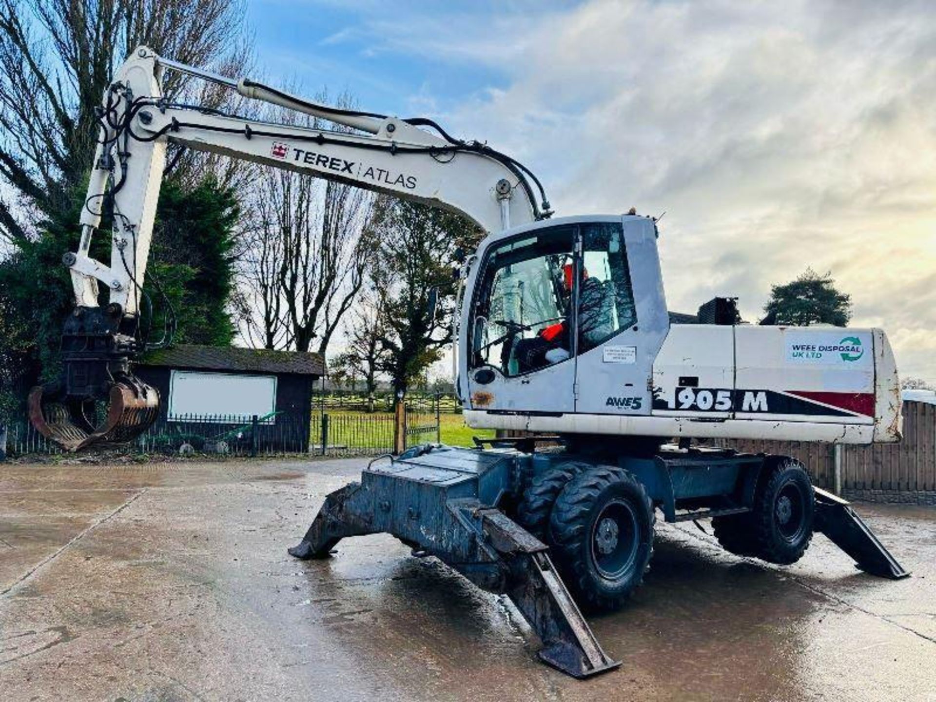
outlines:
[{"label": "wet brownish concrete ground under the excavator", "polygon": [[0,466],[0,698],[936,699],[936,509],[859,506],[914,577],[664,525],[618,670],[537,663],[504,599],[386,535],[286,555],[363,461]]}]

